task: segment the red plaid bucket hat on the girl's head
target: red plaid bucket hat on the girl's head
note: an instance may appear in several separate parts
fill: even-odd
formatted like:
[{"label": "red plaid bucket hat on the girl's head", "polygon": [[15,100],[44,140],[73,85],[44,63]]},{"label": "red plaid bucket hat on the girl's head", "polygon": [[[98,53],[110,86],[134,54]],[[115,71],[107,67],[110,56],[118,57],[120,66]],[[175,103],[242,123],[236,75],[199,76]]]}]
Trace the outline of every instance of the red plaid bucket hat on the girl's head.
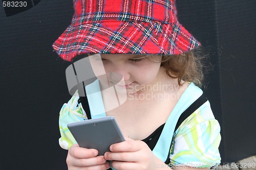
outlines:
[{"label": "red plaid bucket hat on the girl's head", "polygon": [[81,54],[181,54],[200,43],[177,20],[175,0],[74,0],[71,25],[54,42],[64,60]]}]

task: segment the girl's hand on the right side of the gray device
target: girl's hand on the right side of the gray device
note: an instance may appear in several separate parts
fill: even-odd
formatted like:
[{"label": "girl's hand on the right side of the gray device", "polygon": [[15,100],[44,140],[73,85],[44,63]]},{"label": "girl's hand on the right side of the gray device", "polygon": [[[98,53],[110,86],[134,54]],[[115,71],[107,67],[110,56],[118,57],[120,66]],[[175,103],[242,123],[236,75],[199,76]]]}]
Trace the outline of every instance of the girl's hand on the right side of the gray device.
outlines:
[{"label": "girl's hand on the right side of the gray device", "polygon": [[158,159],[147,144],[140,140],[130,139],[112,144],[110,151],[104,154],[104,158],[112,160],[112,166],[118,170],[151,170]]}]

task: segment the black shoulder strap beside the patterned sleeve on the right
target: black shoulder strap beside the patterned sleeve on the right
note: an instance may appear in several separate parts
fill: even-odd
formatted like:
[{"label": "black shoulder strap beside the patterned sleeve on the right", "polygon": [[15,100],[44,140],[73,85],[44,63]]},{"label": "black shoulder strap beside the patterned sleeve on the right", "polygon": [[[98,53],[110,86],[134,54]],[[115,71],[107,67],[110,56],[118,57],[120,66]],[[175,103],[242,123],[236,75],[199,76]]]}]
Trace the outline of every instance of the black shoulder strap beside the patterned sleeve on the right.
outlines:
[{"label": "black shoulder strap beside the patterned sleeve on the right", "polygon": [[[178,119],[178,122],[176,124],[174,132],[176,132],[176,130],[179,128],[179,126],[182,124],[182,122],[188,116],[190,116],[192,113],[194,113],[206,101],[207,101],[207,98],[204,96],[204,94],[202,94],[193,104],[191,104],[183,113],[181,113],[181,115],[180,115],[180,117]],[[172,148],[173,140],[174,140],[174,135],[173,135],[172,142],[170,143],[170,149]],[[169,151],[170,151],[170,149],[169,149]],[[169,164],[169,162],[170,162],[169,156],[170,156],[170,152],[168,153],[168,157],[167,157],[167,159],[165,161],[165,164]]]}]

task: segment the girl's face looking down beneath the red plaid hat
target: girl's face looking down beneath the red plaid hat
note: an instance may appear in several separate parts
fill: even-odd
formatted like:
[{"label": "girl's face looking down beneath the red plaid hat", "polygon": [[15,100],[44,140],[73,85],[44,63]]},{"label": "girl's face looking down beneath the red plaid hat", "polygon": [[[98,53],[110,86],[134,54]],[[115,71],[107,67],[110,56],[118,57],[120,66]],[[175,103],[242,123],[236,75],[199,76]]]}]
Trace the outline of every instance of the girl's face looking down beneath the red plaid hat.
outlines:
[{"label": "girl's face looking down beneath the red plaid hat", "polygon": [[[146,85],[153,84],[161,64],[161,56],[98,54],[89,58],[101,85],[115,85],[116,88],[126,89],[127,94],[135,94]],[[98,76],[102,75],[102,70],[106,72],[106,77]]]}]

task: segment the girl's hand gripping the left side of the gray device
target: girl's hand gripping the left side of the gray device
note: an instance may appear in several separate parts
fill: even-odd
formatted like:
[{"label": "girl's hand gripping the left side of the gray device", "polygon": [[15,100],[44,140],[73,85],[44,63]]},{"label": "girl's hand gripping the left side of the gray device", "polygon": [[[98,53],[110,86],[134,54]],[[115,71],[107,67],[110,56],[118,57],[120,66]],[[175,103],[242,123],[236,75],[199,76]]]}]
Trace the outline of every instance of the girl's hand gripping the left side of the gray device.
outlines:
[{"label": "girl's hand gripping the left side of the gray device", "polygon": [[97,155],[98,151],[95,149],[80,148],[78,144],[73,144],[69,148],[67,156],[68,169],[108,169],[110,167],[110,163],[106,162],[104,156]]}]

